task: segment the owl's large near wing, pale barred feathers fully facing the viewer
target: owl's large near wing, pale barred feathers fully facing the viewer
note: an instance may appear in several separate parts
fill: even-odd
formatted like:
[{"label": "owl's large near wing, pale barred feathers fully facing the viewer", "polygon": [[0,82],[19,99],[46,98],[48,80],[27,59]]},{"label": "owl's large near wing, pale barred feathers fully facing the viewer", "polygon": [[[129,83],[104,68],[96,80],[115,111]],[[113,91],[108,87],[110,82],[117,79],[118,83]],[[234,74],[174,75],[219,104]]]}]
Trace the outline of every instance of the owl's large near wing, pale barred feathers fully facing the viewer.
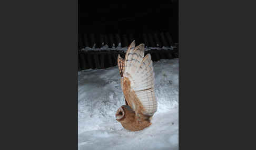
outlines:
[{"label": "owl's large near wing, pale barred feathers fully facing the viewer", "polygon": [[144,44],[129,46],[125,55],[123,91],[126,101],[137,114],[152,116],[157,110],[151,55],[144,57]]}]

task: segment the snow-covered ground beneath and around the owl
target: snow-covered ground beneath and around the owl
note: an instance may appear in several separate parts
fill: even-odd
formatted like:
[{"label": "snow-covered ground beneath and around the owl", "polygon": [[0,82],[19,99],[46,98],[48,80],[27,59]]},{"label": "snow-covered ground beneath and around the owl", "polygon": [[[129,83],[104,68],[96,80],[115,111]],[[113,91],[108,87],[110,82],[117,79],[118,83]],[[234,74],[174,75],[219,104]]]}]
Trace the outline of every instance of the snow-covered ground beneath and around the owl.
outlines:
[{"label": "snow-covered ground beneath and around the owl", "polygon": [[78,72],[78,149],[179,149],[179,59],[153,62],[152,125],[130,132],[115,120],[124,96],[117,67]]}]

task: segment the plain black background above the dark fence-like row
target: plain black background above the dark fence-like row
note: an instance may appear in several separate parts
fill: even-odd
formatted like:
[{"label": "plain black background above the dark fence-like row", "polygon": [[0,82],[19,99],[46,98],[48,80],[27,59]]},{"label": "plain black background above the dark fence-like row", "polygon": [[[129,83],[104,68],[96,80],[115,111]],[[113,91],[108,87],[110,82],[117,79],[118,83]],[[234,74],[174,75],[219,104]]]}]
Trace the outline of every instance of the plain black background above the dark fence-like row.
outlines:
[{"label": "plain black background above the dark fence-like row", "polygon": [[[100,3],[100,2],[99,2]],[[178,42],[178,1],[144,4],[89,4],[78,1],[78,33],[169,32]]]}]

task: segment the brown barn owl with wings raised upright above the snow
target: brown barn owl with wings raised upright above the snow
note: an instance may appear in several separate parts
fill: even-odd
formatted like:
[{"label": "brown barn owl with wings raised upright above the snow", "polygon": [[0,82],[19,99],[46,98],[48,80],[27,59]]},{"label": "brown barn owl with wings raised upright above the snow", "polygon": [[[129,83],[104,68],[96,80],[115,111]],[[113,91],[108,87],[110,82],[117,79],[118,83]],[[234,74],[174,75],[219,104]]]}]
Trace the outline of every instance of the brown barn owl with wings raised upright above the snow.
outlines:
[{"label": "brown barn owl with wings raised upright above the snow", "polygon": [[150,126],[157,110],[151,55],[143,57],[144,44],[135,47],[135,41],[128,47],[124,59],[117,57],[125,105],[116,111],[115,117],[130,131]]}]

